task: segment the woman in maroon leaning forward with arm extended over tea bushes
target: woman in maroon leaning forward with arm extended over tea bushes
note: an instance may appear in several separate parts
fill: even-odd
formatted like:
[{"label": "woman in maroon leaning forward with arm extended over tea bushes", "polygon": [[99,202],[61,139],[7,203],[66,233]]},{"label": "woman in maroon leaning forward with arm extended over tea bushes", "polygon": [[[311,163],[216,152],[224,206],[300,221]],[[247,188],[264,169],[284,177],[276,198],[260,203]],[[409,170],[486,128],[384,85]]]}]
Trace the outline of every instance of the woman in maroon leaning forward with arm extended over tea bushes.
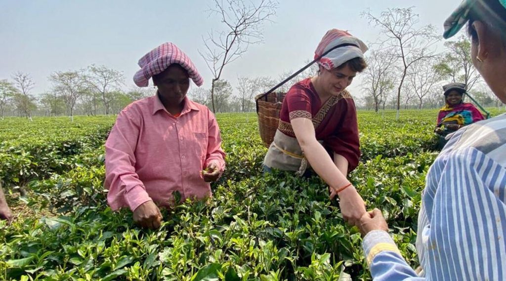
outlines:
[{"label": "woman in maroon leaning forward with arm extended over tea bushes", "polygon": [[366,51],[367,46],[346,31],[331,29],[323,36],[315,52],[318,75],[286,93],[274,142],[264,159],[267,171],[302,175],[311,166],[330,186],[330,199],[339,196],[343,218],[350,224],[366,211],[346,178],[360,157],[357,113],[346,87],[366,68]]}]

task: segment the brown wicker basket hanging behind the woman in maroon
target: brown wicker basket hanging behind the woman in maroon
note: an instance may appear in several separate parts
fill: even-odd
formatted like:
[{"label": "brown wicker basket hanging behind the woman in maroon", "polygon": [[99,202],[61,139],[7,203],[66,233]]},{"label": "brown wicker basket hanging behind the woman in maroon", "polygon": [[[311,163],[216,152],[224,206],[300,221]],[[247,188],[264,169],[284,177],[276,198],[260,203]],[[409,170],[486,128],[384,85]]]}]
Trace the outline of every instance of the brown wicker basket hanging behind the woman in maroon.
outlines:
[{"label": "brown wicker basket hanging behind the woman in maroon", "polygon": [[278,129],[279,112],[285,95],[284,92],[271,92],[267,95],[261,94],[255,97],[260,137],[262,137],[262,142],[267,148],[271,145],[274,134]]}]

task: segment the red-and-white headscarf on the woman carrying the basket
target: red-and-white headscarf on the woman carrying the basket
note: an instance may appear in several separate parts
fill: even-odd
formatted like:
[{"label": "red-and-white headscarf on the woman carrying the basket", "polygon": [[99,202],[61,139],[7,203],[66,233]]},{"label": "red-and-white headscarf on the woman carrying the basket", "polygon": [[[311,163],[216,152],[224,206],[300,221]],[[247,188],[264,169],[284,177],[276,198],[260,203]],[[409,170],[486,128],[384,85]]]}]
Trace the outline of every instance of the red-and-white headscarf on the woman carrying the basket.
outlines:
[{"label": "red-and-white headscarf on the woman carrying the basket", "polygon": [[345,43],[354,44],[354,46],[342,46],[334,49],[322,57],[318,61],[318,64],[327,70],[331,70],[351,59],[364,58],[364,53],[368,49],[364,42],[350,33],[339,29],[330,29],[325,33],[325,36],[323,36],[318,44],[318,48],[316,48],[314,58],[317,59],[332,47]]}]

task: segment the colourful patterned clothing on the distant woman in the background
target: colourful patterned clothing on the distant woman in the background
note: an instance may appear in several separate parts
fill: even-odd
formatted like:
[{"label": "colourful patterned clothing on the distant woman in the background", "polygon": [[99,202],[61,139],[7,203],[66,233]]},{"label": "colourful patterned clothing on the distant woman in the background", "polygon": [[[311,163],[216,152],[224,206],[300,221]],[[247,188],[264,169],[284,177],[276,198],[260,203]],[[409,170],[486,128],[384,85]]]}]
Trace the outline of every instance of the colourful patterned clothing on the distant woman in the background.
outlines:
[{"label": "colourful patterned clothing on the distant woman in the background", "polygon": [[453,107],[446,104],[439,110],[437,126],[443,124],[466,126],[484,119],[483,114],[473,104],[460,103]]}]

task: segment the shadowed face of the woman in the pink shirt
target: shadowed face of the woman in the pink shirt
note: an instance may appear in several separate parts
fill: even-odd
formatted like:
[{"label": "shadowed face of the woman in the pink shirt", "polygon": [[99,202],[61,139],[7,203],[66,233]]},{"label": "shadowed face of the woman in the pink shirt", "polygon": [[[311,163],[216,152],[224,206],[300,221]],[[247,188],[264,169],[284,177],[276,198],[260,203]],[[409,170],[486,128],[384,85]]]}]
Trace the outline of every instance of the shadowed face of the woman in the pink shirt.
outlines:
[{"label": "shadowed face of the woman in the pink shirt", "polygon": [[183,102],[190,87],[188,71],[177,64],[153,76],[153,82],[163,100],[178,105]]}]

